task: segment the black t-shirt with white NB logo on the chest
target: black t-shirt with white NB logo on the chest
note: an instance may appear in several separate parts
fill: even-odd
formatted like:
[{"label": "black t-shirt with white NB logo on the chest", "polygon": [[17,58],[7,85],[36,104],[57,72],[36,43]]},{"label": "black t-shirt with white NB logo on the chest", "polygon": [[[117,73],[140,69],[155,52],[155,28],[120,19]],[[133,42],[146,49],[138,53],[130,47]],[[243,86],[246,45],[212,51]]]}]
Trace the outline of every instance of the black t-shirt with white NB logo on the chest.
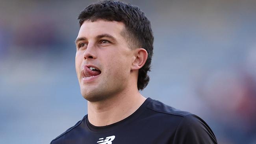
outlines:
[{"label": "black t-shirt with white NB logo on the chest", "polygon": [[93,126],[85,115],[50,144],[217,144],[217,140],[195,114],[147,98],[133,114],[108,126]]}]

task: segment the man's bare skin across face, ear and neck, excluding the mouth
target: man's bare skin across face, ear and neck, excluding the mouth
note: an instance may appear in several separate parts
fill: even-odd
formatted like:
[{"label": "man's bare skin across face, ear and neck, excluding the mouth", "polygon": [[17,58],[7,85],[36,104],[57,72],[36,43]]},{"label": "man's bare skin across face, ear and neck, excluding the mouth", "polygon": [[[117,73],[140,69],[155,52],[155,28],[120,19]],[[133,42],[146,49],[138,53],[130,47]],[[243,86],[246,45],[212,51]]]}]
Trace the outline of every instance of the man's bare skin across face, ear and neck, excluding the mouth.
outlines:
[{"label": "man's bare skin across face, ear and neck, excluding the mouth", "polygon": [[[134,113],[146,98],[137,89],[138,70],[147,60],[143,48],[130,48],[122,22],[83,22],[76,39],[76,73],[88,102],[88,119],[95,126],[118,122]],[[82,67],[93,65],[101,74],[83,78]]]}]

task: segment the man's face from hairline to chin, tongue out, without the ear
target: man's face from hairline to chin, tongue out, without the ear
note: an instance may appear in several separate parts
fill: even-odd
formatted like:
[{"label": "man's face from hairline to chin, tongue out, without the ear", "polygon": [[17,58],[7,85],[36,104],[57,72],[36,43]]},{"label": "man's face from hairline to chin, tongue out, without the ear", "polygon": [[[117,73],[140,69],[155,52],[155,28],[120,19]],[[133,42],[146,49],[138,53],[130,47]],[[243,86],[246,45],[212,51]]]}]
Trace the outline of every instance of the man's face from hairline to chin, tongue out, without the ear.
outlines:
[{"label": "man's face from hairline to chin, tongue out, without the ear", "polygon": [[76,39],[76,74],[82,96],[105,100],[128,87],[133,50],[122,22],[83,22]]}]

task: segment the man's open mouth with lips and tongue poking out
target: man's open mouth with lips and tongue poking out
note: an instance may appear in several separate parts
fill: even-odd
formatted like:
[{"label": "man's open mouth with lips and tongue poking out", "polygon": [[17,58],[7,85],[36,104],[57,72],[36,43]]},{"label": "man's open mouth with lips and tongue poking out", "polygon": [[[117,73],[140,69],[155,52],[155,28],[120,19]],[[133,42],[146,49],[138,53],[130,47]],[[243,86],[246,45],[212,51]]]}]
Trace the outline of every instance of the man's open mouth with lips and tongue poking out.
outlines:
[{"label": "man's open mouth with lips and tongue poking out", "polygon": [[83,78],[90,78],[93,76],[98,76],[101,74],[101,71],[98,70],[95,66],[92,65],[85,65],[82,67],[82,76]]}]

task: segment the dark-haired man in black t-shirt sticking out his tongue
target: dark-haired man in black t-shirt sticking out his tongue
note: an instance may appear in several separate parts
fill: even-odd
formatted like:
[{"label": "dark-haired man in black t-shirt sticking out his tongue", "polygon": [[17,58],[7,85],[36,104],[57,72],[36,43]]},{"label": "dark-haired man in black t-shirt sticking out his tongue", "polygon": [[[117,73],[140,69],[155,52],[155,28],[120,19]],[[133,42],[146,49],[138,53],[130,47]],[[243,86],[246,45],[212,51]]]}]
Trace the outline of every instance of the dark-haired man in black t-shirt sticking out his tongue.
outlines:
[{"label": "dark-haired man in black t-shirt sticking out his tongue", "polygon": [[51,144],[217,144],[198,116],[145,98],[153,41],[150,21],[119,1],[79,15],[76,73],[88,114]]}]

